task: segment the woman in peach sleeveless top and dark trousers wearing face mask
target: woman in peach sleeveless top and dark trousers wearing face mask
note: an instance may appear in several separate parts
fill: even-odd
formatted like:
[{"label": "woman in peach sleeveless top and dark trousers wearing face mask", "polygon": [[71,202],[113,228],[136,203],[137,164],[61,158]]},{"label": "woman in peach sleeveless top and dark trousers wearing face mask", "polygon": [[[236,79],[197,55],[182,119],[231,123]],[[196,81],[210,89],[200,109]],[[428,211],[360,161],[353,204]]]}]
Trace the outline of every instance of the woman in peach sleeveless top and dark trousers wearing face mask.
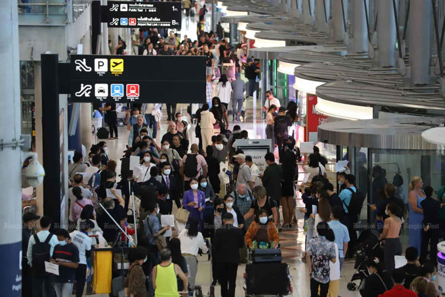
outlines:
[{"label": "woman in peach sleeveless top and dark trousers wearing face mask", "polygon": [[402,227],[402,220],[400,219],[402,210],[399,206],[388,204],[386,206],[385,214],[388,218],[384,220],[383,232],[380,234],[380,240],[384,241],[384,260],[386,272],[391,275],[395,268],[394,256],[402,254],[402,244],[399,239],[400,228]]}]

